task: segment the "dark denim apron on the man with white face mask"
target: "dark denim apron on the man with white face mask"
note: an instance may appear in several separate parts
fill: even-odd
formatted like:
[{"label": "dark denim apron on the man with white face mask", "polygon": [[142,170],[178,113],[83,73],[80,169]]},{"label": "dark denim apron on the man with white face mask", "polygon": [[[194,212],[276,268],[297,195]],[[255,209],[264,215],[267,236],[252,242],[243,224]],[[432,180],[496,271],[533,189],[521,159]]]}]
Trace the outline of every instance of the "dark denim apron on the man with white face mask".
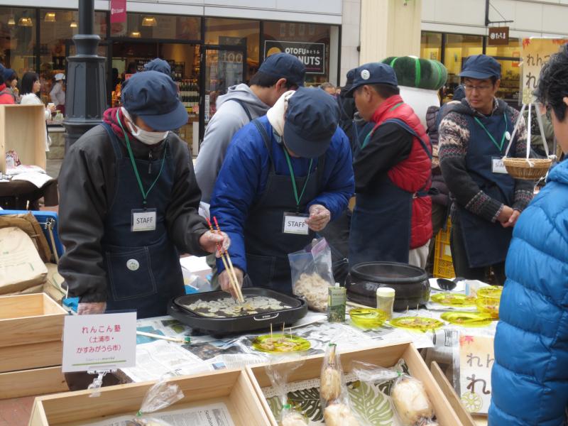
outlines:
[{"label": "dark denim apron on the man with white face mask", "polygon": [[[166,315],[172,297],[185,294],[180,256],[168,238],[165,212],[171,201],[175,166],[170,150],[160,178],[146,198],[156,209],[154,231],[131,231],[132,209],[143,207],[131,160],[123,155],[121,142],[109,124],[103,124],[116,155],[116,192],[104,218],[104,268],[107,271],[107,311],[136,310],[138,318]],[[163,143],[169,143],[167,140]],[[162,158],[135,160],[147,190],[158,177]],[[148,173],[150,171],[151,173]]]}]

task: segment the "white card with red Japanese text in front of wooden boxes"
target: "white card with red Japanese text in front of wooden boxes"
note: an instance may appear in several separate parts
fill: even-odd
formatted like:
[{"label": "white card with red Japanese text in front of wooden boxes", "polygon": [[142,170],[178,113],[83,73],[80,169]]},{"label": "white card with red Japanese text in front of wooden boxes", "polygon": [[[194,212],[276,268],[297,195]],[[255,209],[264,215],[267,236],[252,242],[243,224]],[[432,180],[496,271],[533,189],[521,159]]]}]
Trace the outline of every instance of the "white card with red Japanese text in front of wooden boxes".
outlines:
[{"label": "white card with red Japanese text in front of wooden boxes", "polygon": [[136,366],[136,312],[65,317],[62,371]]}]

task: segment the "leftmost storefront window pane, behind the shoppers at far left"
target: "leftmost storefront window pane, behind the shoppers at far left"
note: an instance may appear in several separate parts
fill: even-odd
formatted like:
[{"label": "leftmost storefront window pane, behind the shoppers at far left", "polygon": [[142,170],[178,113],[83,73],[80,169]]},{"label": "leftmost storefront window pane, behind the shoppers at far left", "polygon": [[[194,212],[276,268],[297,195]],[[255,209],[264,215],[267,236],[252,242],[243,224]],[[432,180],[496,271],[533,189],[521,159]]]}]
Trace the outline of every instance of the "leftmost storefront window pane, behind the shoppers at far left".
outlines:
[{"label": "leftmost storefront window pane, behind the shoppers at far left", "polygon": [[35,71],[35,9],[0,7],[0,63],[18,78]]}]

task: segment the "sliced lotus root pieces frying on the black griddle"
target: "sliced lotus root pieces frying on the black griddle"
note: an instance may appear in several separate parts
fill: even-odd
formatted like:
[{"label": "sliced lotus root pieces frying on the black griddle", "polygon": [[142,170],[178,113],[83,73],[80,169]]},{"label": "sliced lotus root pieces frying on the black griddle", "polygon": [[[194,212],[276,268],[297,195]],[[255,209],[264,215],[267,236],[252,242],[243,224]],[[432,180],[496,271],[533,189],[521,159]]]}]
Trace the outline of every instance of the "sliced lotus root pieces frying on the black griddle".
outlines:
[{"label": "sliced lotus root pieces frying on the black griddle", "polygon": [[242,317],[244,315],[257,315],[290,309],[290,306],[285,305],[283,302],[273,299],[273,297],[265,296],[246,297],[242,305],[239,305],[239,303],[231,297],[223,297],[217,300],[199,299],[190,305],[182,306],[202,317],[211,318]]}]

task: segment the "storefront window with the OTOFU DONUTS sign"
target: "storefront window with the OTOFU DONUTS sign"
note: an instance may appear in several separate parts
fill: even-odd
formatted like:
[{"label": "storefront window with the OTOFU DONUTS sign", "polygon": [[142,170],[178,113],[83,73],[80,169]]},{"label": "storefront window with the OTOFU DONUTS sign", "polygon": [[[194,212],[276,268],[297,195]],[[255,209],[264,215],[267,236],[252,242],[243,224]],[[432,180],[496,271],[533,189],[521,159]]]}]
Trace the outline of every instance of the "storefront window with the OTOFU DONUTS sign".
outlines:
[{"label": "storefront window with the OTOFU DONUTS sign", "polygon": [[337,40],[330,46],[332,26],[315,23],[265,22],[264,56],[288,52],[306,67],[306,85],[329,81],[330,49],[337,51]]}]

